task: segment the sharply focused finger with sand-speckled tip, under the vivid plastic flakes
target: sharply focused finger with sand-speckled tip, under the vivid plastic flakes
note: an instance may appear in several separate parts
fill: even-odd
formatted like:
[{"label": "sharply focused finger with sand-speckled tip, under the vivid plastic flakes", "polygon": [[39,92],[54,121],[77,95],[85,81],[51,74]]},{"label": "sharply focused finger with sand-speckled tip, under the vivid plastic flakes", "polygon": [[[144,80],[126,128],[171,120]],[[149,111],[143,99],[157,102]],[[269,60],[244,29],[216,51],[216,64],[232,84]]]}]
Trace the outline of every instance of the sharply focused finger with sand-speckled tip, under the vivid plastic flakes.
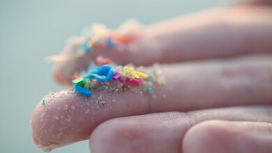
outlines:
[{"label": "sharply focused finger with sand-speckled tip, under the vivid plastic flakes", "polygon": [[33,111],[33,136],[41,146],[89,137],[98,124],[127,115],[272,102],[271,56],[162,67],[166,83],[153,95],[134,90],[95,92],[91,98],[63,90],[47,95]]}]

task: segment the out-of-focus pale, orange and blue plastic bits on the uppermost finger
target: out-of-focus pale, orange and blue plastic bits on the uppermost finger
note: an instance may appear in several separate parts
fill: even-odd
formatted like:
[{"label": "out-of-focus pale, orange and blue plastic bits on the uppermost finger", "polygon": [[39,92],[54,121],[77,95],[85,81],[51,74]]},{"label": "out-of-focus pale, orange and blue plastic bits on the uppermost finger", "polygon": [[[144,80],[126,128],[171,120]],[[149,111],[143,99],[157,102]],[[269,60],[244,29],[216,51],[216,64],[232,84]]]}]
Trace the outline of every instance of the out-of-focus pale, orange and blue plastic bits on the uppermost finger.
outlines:
[{"label": "out-of-focus pale, orange and blue plastic bits on the uppermost finger", "polygon": [[84,56],[84,54],[91,54],[94,45],[105,45],[109,49],[114,49],[116,45],[119,45],[119,47],[130,45],[139,33],[141,27],[139,25],[140,24],[135,21],[126,22],[121,25],[119,29],[114,31],[108,29],[105,25],[93,24],[89,28],[84,29],[82,35],[84,42],[82,42],[81,47],[75,47],[77,50],[73,51],[73,54],[50,56],[45,60],[49,62],[70,61],[79,58],[80,56]]}]

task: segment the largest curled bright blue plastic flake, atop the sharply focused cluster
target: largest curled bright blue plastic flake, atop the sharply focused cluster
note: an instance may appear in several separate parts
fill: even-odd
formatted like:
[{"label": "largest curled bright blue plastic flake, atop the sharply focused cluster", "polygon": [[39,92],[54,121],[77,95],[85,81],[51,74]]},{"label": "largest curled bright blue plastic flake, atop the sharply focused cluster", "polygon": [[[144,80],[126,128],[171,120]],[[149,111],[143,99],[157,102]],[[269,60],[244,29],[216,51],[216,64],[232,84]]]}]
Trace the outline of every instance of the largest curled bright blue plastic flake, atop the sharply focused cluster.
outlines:
[{"label": "largest curled bright blue plastic flake, atop the sharply focused cluster", "polygon": [[111,65],[103,65],[98,67],[97,71],[91,72],[87,75],[89,79],[96,79],[100,82],[107,82],[112,79],[114,74],[114,68]]}]

